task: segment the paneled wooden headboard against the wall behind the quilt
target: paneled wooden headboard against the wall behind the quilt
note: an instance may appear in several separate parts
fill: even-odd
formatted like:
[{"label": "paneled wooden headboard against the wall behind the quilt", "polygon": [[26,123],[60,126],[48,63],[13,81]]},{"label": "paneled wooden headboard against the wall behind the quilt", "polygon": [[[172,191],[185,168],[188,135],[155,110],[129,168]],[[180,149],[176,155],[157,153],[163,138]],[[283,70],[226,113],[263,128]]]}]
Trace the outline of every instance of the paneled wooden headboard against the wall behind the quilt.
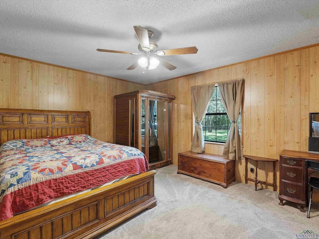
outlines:
[{"label": "paneled wooden headboard against the wall behind the quilt", "polygon": [[0,109],[0,144],[11,139],[79,133],[91,135],[89,111]]}]

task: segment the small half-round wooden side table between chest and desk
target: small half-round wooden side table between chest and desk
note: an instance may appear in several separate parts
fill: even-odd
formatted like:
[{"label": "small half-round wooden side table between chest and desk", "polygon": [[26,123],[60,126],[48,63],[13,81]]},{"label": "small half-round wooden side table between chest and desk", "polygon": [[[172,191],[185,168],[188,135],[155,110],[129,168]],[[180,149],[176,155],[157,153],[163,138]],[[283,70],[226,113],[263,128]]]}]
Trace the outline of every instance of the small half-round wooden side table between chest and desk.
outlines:
[{"label": "small half-round wooden side table between chest and desk", "polygon": [[[244,155],[245,158],[245,183],[247,184],[248,181],[255,182],[255,191],[257,190],[257,184],[264,184],[267,186],[272,186],[274,188],[274,191],[277,191],[277,184],[276,184],[276,162],[278,159],[273,159],[273,158],[263,158],[263,157],[257,157],[257,156],[250,156],[250,155]],[[255,161],[255,167],[256,167],[256,172],[255,172],[255,179],[248,178],[248,159],[254,160]],[[259,181],[257,178],[257,171],[258,171],[258,161],[262,162],[273,162],[274,166],[274,179],[273,183],[268,183],[268,182],[263,182]]]}]

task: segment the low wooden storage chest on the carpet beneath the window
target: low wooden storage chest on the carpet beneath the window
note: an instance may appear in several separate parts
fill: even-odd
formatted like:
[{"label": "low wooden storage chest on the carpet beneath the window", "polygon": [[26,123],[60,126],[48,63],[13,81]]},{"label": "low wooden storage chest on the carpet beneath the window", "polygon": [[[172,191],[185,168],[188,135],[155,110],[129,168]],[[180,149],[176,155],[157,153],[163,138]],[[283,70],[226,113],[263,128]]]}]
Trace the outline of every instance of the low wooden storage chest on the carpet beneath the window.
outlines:
[{"label": "low wooden storage chest on the carpet beneath the window", "polygon": [[209,153],[178,153],[177,173],[199,178],[227,188],[235,181],[235,160]]}]

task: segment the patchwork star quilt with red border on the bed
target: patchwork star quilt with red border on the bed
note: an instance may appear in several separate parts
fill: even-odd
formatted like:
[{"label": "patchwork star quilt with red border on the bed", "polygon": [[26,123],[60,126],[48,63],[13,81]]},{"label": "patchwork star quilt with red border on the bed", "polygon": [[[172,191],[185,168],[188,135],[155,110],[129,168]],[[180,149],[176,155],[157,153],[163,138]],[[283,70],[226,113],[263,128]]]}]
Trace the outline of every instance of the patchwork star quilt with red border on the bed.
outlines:
[{"label": "patchwork star quilt with red border on the bed", "polygon": [[86,134],[7,141],[0,146],[0,220],[148,169],[140,150]]}]

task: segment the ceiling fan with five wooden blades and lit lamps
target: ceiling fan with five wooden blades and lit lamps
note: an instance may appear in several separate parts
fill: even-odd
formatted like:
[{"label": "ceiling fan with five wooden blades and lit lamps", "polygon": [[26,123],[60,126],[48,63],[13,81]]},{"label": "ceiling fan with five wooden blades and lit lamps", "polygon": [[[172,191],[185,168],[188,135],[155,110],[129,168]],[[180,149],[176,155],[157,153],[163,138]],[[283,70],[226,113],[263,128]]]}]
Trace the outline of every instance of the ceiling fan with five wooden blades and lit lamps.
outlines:
[{"label": "ceiling fan with five wooden blades and lit lamps", "polygon": [[131,65],[127,70],[134,70],[136,67],[141,67],[145,70],[152,70],[158,67],[161,64],[163,67],[172,71],[176,69],[176,66],[170,64],[169,62],[155,57],[158,56],[170,56],[170,55],[182,55],[182,54],[196,54],[198,49],[196,46],[184,47],[184,48],[175,48],[169,50],[160,50],[159,46],[153,41],[150,41],[150,38],[154,35],[153,31],[148,30],[142,26],[134,26],[136,36],[139,39],[138,49],[139,53],[128,52],[128,51],[115,51],[115,50],[106,50],[106,49],[96,49],[101,52],[112,52],[112,53],[121,53],[121,54],[131,54],[131,55],[143,55],[137,62]]}]

